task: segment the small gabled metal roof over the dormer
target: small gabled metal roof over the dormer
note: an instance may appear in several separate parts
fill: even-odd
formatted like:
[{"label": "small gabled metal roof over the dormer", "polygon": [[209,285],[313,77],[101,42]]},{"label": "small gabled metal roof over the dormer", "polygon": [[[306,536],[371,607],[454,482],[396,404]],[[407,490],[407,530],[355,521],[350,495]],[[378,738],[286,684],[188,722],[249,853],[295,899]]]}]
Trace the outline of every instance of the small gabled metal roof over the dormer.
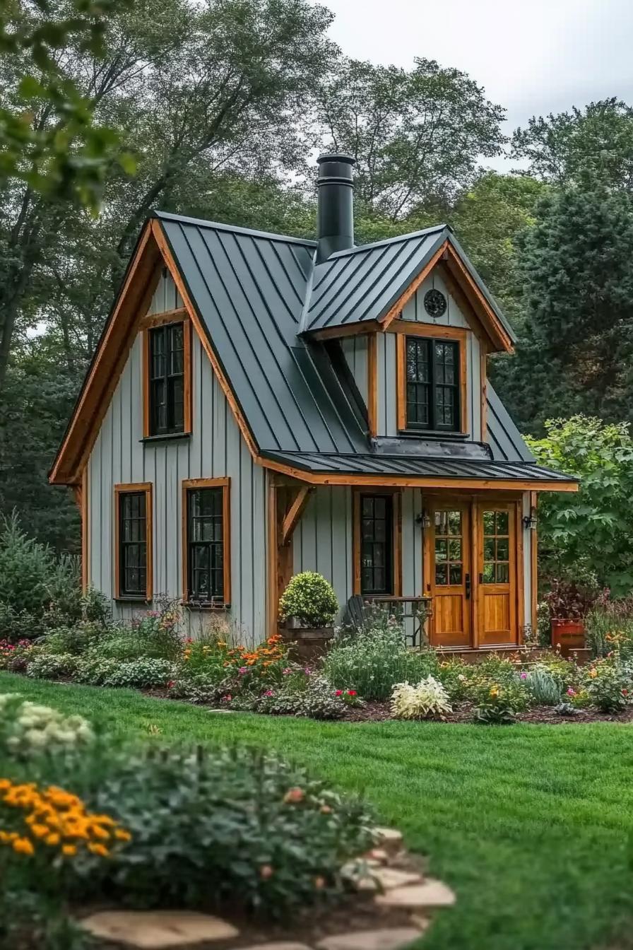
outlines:
[{"label": "small gabled metal roof over the dormer", "polygon": [[[382,323],[407,289],[419,286],[440,257],[449,257],[457,278],[473,281],[493,323],[501,331],[499,349],[516,337],[493,295],[446,224],[338,251],[314,268],[302,317],[304,333],[323,333],[370,321]],[[463,273],[460,273],[463,272]]]}]

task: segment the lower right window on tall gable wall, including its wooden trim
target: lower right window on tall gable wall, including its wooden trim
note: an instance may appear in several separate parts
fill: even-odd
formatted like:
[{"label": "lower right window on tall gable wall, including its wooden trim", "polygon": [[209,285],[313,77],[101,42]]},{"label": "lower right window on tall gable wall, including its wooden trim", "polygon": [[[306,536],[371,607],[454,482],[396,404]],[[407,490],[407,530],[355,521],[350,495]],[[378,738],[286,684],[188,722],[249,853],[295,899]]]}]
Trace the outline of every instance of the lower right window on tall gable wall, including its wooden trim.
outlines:
[{"label": "lower right window on tall gable wall, including its wooden trim", "polygon": [[228,479],[183,483],[185,599],[223,607],[231,601]]}]

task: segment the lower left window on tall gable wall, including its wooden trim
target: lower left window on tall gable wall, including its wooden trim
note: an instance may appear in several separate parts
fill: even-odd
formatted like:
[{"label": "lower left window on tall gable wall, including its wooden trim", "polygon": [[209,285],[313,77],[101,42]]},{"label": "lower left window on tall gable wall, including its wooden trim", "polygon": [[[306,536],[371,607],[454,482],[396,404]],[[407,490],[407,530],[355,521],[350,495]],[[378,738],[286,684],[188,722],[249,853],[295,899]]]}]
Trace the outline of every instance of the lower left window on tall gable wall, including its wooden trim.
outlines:
[{"label": "lower left window on tall gable wall, including its wooden trim", "polygon": [[115,580],[120,599],[152,599],[152,485],[115,485]]}]

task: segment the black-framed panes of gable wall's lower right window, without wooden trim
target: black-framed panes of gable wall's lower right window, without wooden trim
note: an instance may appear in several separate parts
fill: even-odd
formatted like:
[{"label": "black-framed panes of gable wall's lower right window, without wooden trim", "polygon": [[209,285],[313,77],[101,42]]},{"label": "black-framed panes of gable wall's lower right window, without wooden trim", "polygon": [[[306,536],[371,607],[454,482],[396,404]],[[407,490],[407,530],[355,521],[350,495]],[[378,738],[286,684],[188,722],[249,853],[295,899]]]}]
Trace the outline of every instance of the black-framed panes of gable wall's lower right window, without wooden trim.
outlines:
[{"label": "black-framed panes of gable wall's lower right window, without wooden trim", "polygon": [[224,603],[224,488],[187,491],[187,596]]}]

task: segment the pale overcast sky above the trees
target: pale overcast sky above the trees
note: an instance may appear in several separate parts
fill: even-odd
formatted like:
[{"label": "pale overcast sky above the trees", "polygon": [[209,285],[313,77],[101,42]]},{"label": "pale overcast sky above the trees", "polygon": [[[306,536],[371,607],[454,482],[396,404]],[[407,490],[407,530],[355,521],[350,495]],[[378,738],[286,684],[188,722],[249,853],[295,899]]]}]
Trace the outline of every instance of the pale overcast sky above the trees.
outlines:
[{"label": "pale overcast sky above the trees", "polygon": [[[617,96],[633,103],[630,0],[323,0],[348,56],[410,67],[455,66],[507,109],[505,132],[531,115]],[[490,161],[508,167],[507,161]]]}]

